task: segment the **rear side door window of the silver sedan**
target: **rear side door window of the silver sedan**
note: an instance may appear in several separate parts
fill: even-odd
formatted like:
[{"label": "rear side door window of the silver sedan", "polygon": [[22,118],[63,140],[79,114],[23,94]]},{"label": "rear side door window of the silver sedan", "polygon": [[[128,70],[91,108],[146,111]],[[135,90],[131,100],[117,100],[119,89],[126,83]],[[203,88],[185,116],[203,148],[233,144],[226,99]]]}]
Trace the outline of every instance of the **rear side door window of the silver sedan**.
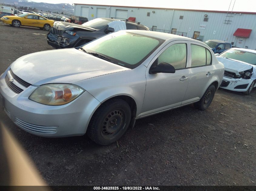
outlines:
[{"label": "rear side door window of the silver sedan", "polygon": [[211,53],[203,46],[191,44],[191,67],[211,64]]}]

